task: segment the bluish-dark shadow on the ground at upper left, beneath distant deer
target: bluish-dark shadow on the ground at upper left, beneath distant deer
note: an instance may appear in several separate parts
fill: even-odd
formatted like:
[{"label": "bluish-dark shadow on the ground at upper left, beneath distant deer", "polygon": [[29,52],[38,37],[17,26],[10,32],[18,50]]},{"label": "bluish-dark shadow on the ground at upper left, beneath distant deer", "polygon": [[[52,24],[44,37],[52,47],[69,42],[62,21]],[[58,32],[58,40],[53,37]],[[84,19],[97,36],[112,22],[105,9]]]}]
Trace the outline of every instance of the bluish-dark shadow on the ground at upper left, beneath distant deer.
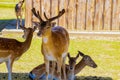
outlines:
[{"label": "bluish-dark shadow on the ground at upper left, beneath distant deer", "polygon": [[[24,24],[25,20],[22,20]],[[0,31],[3,29],[16,29],[16,19],[0,19]]]}]

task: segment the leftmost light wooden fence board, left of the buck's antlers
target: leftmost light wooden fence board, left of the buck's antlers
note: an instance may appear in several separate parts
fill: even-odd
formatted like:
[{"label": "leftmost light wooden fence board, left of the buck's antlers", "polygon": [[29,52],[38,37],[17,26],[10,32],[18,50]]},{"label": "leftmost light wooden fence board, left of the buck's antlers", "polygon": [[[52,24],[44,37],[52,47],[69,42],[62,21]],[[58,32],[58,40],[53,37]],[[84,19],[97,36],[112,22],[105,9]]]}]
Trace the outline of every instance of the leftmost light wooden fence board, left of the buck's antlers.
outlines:
[{"label": "leftmost light wooden fence board, left of the buck's antlers", "polygon": [[25,26],[32,26],[32,0],[25,0]]}]

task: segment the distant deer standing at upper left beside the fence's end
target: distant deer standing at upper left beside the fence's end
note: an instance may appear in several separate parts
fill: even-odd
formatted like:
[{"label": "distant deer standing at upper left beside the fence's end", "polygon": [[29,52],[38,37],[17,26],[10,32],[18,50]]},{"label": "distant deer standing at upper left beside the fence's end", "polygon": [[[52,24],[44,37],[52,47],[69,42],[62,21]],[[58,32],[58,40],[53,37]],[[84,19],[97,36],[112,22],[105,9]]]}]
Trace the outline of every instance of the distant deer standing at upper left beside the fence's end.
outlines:
[{"label": "distant deer standing at upper left beside the fence's end", "polygon": [[[16,21],[16,29],[18,29],[18,23],[20,21],[20,25],[22,25],[22,6],[23,6],[24,0],[20,0],[16,5],[15,5],[15,14],[17,17],[17,21]],[[20,20],[19,20],[20,17]]]}]

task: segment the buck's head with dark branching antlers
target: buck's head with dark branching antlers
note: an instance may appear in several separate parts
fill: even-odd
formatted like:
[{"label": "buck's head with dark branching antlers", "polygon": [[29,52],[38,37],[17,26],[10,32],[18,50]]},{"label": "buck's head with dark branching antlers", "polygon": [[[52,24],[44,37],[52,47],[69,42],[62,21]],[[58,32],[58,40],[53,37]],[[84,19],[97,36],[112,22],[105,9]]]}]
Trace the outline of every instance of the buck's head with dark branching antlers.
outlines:
[{"label": "buck's head with dark branching antlers", "polygon": [[61,17],[65,13],[65,10],[62,9],[61,11],[59,11],[57,16],[52,17],[52,18],[47,18],[46,14],[44,12],[44,17],[46,18],[46,21],[44,21],[41,18],[40,14],[39,14],[39,11],[36,11],[35,8],[32,9],[32,13],[34,14],[34,16],[36,18],[39,19],[39,22],[34,22],[34,24],[38,27],[39,32],[37,33],[37,35],[40,36],[41,34],[43,35],[43,33],[47,32],[48,30],[51,30],[52,21]]}]

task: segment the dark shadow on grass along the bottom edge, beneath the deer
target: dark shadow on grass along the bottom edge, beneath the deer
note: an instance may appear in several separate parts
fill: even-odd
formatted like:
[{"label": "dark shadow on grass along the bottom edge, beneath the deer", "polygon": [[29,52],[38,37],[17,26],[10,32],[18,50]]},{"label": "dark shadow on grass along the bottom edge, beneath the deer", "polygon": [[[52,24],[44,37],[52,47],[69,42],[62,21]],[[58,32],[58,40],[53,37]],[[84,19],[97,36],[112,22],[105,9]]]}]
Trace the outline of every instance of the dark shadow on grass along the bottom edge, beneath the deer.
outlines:
[{"label": "dark shadow on grass along the bottom edge, beneath the deer", "polygon": [[[0,80],[7,80],[8,73],[0,73]],[[13,80],[31,80],[28,73],[12,73]],[[113,80],[111,77],[77,76],[75,80]]]}]

